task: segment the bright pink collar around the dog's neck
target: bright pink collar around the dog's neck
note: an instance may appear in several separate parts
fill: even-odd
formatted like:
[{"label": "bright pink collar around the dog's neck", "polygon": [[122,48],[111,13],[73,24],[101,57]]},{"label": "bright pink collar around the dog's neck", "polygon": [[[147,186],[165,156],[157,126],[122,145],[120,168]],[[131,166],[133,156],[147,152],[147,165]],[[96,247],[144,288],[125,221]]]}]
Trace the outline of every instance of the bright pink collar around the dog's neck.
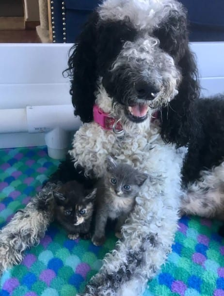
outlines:
[{"label": "bright pink collar around the dog's neck", "polygon": [[[94,105],[93,108],[93,115],[94,115],[94,121],[102,126],[102,128],[106,130],[113,130],[113,128],[116,129],[116,131],[122,131],[122,125],[120,122],[117,122],[117,120],[113,117],[109,117],[109,113],[105,113],[102,109],[100,109],[97,105]],[[117,122],[116,126],[114,124]]]}]

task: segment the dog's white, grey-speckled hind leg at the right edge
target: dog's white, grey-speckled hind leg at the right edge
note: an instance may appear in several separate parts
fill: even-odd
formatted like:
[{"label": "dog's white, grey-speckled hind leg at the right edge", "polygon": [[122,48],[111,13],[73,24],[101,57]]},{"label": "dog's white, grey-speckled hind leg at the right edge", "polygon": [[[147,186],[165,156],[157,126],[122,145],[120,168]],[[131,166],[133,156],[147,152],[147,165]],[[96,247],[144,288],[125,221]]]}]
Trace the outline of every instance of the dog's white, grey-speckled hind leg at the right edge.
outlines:
[{"label": "dog's white, grey-speckled hind leg at the right edge", "polygon": [[224,163],[211,171],[202,171],[200,180],[188,185],[181,214],[222,218],[224,213]]}]

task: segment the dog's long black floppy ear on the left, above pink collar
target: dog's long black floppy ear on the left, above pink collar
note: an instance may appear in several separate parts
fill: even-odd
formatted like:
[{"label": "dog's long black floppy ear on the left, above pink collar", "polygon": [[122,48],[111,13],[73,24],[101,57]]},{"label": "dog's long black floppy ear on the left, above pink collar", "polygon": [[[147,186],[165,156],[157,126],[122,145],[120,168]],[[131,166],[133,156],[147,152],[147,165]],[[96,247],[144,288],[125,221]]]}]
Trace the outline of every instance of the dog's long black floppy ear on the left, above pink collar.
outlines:
[{"label": "dog's long black floppy ear on the left, above pink collar", "polygon": [[79,115],[82,122],[93,120],[93,105],[96,90],[96,23],[97,12],[93,12],[77,38],[76,44],[70,49],[68,73],[71,78],[70,94],[75,108],[74,114]]}]

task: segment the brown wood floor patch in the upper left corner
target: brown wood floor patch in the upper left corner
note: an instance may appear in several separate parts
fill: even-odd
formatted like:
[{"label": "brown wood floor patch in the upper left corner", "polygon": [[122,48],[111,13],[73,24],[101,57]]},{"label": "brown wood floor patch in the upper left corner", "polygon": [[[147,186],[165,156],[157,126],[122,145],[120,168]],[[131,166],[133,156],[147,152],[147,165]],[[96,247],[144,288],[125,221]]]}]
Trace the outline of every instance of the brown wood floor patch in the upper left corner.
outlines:
[{"label": "brown wood floor patch in the upper left corner", "polygon": [[0,43],[41,43],[36,30],[1,30]]}]

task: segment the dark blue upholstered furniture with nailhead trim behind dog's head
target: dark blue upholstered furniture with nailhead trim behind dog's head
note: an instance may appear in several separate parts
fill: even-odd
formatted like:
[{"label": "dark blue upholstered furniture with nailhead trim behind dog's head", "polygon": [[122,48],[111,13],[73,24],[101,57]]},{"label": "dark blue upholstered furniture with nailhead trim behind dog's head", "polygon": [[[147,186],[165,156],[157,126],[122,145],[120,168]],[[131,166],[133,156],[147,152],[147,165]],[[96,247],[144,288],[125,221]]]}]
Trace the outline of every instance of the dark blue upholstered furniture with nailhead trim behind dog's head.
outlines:
[{"label": "dark blue upholstered furniture with nailhead trim behind dog's head", "polygon": [[[53,42],[74,43],[101,0],[51,0]],[[224,0],[181,0],[188,9],[191,41],[224,41]]]}]

